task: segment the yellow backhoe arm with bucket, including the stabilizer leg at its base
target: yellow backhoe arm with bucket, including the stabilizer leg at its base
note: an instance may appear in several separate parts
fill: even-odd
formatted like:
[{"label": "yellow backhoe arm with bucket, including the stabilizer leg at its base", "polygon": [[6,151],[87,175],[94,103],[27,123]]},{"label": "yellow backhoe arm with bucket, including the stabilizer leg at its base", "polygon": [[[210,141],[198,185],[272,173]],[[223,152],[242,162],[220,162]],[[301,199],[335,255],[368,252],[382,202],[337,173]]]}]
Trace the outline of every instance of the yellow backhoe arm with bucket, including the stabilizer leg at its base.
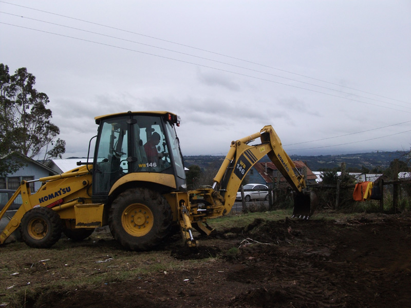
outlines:
[{"label": "yellow backhoe arm with bucket, including the stabilizer leg at its base", "polygon": [[[260,138],[259,144],[249,145],[257,138]],[[210,235],[213,229],[207,224],[207,219],[230,213],[242,180],[265,155],[268,155],[295,191],[293,217],[308,219],[312,215],[316,196],[306,188],[304,176],[296,170],[293,161],[284,151],[274,128],[268,125],[251,136],[231,142],[230,150],[211,188],[190,190],[187,193],[176,192],[176,196],[173,196],[176,200],[189,198],[178,209],[183,239],[189,246],[197,245],[192,236],[193,228],[201,234]]]}]

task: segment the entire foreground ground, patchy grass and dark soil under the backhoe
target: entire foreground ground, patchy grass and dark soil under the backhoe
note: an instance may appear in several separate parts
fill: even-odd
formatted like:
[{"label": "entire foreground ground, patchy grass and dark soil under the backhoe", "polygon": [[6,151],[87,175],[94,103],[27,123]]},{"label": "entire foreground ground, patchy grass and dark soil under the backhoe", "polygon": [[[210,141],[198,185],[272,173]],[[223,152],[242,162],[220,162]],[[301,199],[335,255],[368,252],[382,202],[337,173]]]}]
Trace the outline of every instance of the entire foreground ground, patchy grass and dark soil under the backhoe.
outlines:
[{"label": "entire foreground ground, patchy grass and dark soil under the backhoe", "polygon": [[61,239],[51,249],[11,243],[0,247],[0,302],[60,308],[411,303],[409,213],[257,219],[199,240],[194,251],[182,248],[177,236],[156,252],[133,253],[101,229],[81,243]]}]

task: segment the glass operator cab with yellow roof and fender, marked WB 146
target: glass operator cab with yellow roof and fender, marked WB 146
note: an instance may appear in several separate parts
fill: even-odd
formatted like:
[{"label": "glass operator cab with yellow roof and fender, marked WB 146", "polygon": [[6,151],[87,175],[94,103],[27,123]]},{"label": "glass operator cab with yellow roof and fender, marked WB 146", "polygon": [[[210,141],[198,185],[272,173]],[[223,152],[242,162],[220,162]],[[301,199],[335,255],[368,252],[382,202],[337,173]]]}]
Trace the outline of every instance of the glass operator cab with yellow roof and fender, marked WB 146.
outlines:
[{"label": "glass operator cab with yellow roof and fender, marked WB 146", "polygon": [[93,168],[94,202],[107,200],[111,188],[123,182],[155,185],[164,192],[186,188],[174,127],[180,122],[176,114],[128,111],[95,119],[99,129]]}]

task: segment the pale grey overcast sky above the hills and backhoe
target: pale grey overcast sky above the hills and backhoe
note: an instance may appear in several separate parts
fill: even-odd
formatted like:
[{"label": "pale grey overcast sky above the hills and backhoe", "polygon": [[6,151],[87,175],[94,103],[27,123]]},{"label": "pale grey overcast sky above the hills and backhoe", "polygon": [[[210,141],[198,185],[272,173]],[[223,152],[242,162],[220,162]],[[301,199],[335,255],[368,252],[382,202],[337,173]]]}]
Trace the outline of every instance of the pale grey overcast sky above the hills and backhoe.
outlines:
[{"label": "pale grey overcast sky above the hills and backhoe", "polygon": [[411,1],[0,1],[0,63],[50,99],[64,158],[94,117],[166,110],[183,155],[271,124],[289,155],[409,150]]}]

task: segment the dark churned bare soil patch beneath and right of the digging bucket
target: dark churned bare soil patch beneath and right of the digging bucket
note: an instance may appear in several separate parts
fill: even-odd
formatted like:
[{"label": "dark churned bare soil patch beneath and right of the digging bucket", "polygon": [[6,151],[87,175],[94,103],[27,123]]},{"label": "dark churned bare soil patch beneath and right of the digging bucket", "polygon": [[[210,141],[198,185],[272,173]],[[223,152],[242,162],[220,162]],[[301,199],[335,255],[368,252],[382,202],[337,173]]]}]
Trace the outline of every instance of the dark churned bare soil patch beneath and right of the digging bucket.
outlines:
[{"label": "dark churned bare soil patch beneath and right of the digging bucket", "polygon": [[393,308],[411,303],[409,215],[256,220],[200,240],[196,251],[164,247],[177,260],[208,258],[194,268],[69,293],[45,291],[28,299],[26,307]]}]

